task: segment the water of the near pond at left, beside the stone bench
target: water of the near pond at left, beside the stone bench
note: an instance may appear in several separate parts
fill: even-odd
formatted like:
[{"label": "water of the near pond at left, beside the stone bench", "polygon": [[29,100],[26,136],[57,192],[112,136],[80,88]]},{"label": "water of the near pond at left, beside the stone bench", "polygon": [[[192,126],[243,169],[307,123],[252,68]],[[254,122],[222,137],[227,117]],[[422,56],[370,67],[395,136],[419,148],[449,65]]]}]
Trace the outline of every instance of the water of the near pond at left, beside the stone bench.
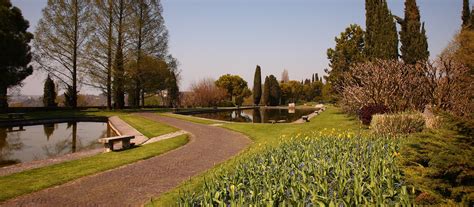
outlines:
[{"label": "water of the near pond at left, beside the stone bench", "polygon": [[97,139],[109,136],[115,132],[103,122],[0,127],[0,167],[101,148]]}]

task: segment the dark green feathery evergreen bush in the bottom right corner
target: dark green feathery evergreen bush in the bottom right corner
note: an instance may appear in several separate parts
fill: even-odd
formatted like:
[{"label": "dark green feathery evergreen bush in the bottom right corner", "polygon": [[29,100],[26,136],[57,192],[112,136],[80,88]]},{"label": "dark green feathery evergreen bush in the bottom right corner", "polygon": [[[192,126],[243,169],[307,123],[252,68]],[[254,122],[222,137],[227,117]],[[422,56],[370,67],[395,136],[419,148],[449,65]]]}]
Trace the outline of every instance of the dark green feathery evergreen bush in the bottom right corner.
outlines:
[{"label": "dark green feathery evergreen bush in the bottom right corner", "polygon": [[416,190],[416,204],[474,206],[474,142],[466,131],[472,125],[452,118],[441,114],[441,128],[411,134],[402,143],[400,164]]}]

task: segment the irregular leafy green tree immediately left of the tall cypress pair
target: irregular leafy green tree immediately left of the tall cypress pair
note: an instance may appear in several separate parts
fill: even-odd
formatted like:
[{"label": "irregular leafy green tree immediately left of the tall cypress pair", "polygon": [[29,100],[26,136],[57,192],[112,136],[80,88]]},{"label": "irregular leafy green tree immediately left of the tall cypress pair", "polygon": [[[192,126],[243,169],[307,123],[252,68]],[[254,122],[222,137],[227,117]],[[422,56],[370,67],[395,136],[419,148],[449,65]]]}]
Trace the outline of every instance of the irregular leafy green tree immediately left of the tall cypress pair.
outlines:
[{"label": "irregular leafy green tree immediately left of the tall cypress pair", "polygon": [[366,59],[364,35],[364,30],[359,25],[352,24],[335,38],[334,49],[329,48],[327,51],[331,70],[326,72],[329,74],[328,81],[331,82],[335,94],[340,94],[343,90],[343,73],[348,72],[354,64]]}]

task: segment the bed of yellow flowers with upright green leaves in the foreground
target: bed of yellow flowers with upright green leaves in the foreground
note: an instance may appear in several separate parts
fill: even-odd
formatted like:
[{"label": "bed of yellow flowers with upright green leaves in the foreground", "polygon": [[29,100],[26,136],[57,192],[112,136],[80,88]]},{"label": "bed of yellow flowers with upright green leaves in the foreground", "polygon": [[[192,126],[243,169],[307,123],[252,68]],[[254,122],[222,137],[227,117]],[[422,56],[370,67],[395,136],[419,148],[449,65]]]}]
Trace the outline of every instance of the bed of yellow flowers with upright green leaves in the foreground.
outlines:
[{"label": "bed of yellow flowers with upright green leaves in the foreground", "polygon": [[265,147],[206,179],[180,206],[409,204],[395,139],[313,133]]}]

